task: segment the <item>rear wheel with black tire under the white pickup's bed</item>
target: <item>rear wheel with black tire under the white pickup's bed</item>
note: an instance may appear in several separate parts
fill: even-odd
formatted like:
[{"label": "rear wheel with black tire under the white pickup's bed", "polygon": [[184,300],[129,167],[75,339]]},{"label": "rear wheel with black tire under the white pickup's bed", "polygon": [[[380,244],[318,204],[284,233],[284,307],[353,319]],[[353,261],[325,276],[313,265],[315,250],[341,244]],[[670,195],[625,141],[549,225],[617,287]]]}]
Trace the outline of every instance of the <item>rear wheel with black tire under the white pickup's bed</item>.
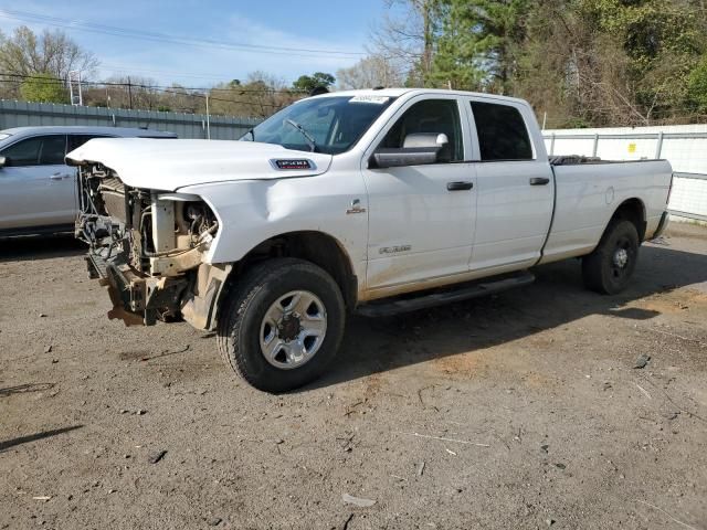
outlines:
[{"label": "rear wheel with black tire under the white pickup's bed", "polygon": [[639,231],[631,221],[612,221],[594,252],[582,258],[587,288],[604,295],[621,293],[633,276],[640,245]]}]

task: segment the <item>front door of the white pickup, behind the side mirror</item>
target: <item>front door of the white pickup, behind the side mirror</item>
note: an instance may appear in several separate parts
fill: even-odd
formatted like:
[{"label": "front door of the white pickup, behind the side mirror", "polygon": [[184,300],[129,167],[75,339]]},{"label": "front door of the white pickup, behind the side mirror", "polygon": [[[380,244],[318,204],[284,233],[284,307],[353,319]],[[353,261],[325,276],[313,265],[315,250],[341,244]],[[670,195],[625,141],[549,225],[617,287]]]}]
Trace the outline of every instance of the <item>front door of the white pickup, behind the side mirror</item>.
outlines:
[{"label": "front door of the white pickup, behind the side mirror", "polygon": [[[437,163],[377,169],[379,148],[403,147],[411,134],[444,134]],[[367,289],[399,286],[466,273],[474,240],[476,181],[468,120],[453,95],[408,102],[366,151],[369,243]],[[405,289],[400,289],[405,290]]]}]

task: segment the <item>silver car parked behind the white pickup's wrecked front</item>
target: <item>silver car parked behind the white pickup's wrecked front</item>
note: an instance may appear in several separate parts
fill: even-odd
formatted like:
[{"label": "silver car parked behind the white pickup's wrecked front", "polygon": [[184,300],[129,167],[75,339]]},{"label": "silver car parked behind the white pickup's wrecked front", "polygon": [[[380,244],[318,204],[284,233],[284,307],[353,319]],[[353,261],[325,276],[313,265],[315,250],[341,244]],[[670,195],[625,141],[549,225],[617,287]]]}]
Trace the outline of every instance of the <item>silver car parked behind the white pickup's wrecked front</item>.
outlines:
[{"label": "silver car parked behind the white pickup's wrecked front", "polygon": [[122,127],[17,127],[0,130],[0,236],[72,231],[76,170],[64,156],[92,138],[177,138]]}]

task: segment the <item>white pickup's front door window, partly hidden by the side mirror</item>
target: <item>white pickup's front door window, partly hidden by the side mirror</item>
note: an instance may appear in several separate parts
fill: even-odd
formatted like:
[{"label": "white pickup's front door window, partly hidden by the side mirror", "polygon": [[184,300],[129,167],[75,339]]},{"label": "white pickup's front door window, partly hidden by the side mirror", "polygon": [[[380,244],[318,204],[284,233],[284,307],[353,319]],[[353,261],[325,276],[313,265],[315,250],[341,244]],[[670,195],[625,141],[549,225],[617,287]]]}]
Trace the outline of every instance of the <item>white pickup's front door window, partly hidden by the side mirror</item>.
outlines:
[{"label": "white pickup's front door window, partly hidden by the side mirror", "polygon": [[455,99],[425,99],[405,110],[379,147],[399,149],[413,132],[445,134],[450,142],[440,152],[441,162],[464,159],[460,108]]}]

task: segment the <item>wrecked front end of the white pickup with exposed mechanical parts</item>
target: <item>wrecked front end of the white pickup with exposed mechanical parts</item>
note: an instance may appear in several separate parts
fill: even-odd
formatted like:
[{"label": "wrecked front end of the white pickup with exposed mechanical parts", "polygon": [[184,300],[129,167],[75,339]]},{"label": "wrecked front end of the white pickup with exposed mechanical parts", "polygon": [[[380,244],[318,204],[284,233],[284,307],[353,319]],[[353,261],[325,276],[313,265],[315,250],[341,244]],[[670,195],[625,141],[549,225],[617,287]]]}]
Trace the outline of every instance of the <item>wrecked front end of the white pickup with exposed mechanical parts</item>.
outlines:
[{"label": "wrecked front end of the white pickup with exposed mechanical parts", "polygon": [[130,188],[101,163],[80,167],[78,197],[76,236],[89,245],[89,277],[108,287],[109,318],[214,327],[230,266],[205,263],[219,223],[201,198]]}]

